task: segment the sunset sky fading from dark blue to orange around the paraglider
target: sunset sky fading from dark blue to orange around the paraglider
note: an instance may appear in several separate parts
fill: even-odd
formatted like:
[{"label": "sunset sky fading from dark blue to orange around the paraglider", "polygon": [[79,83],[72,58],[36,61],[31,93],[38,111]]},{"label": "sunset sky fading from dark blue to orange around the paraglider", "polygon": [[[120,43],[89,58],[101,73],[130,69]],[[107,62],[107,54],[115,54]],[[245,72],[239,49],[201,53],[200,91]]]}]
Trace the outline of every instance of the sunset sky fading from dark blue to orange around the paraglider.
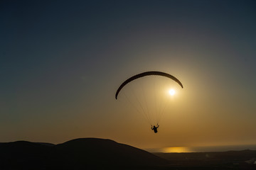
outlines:
[{"label": "sunset sky fading from dark blue to orange around the paraglider", "polygon": [[[256,144],[255,8],[235,0],[1,1],[0,142]],[[157,134],[114,98],[124,80],[147,71],[183,84]]]}]

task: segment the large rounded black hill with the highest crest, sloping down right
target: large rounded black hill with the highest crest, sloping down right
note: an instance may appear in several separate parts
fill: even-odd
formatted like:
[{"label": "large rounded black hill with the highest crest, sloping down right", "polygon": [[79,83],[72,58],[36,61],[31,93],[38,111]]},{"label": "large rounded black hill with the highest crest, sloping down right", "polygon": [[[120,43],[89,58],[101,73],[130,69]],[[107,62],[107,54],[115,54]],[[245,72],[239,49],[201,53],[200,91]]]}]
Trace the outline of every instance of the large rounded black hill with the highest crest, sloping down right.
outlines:
[{"label": "large rounded black hill with the highest crest, sloping down right", "polygon": [[142,149],[97,138],[70,140],[56,145],[55,149],[75,164],[82,164],[85,162],[84,158],[87,164],[109,166],[151,166],[168,163]]}]

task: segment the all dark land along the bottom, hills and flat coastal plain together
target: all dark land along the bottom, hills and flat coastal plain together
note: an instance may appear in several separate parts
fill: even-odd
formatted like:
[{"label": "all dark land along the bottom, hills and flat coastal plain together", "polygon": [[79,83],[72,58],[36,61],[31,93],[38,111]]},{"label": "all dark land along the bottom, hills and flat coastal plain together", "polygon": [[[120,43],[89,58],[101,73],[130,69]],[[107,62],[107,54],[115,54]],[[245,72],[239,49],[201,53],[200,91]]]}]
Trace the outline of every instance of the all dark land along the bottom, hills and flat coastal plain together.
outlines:
[{"label": "all dark land along the bottom, hills and flat coastal plain together", "polygon": [[0,169],[256,169],[256,150],[149,153],[113,140],[0,143]]}]

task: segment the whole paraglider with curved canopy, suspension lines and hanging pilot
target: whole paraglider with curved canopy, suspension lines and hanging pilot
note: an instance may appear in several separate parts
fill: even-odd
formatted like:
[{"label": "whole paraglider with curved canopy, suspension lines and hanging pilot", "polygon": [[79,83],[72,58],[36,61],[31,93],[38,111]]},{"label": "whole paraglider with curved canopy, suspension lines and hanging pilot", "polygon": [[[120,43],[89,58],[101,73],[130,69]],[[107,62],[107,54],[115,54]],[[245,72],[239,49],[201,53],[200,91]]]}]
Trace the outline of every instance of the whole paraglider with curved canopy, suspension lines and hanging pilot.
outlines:
[{"label": "whole paraglider with curved canopy, suspension lines and hanging pilot", "polygon": [[[130,77],[129,79],[125,80],[120,86],[119,88],[117,89],[116,93],[115,93],[115,98],[117,100],[117,98],[119,97],[119,94],[121,91],[123,91],[123,89],[125,89],[124,87],[127,86],[128,84],[132,84],[133,81],[137,81],[137,79],[141,79],[142,77],[150,77],[151,76],[157,76],[157,77],[164,77],[164,79],[167,78],[167,80],[171,79],[172,81],[175,81],[179,86],[181,86],[181,88],[183,89],[183,85],[181,84],[181,81],[179,81],[176,77],[172,76],[171,74],[168,74],[168,73],[165,73],[165,72],[158,72],[158,71],[151,71],[151,72],[142,72],[140,74],[136,74],[132,77]],[[156,82],[157,84],[158,82]],[[149,83],[146,84],[146,87],[148,87],[147,85],[150,85]],[[141,86],[141,84],[140,84]],[[151,90],[148,92],[148,93],[145,93],[144,90],[146,89],[144,86],[142,87],[141,86],[141,90],[140,91],[143,91],[144,94],[151,94],[152,92],[151,91],[154,91],[153,89],[154,88],[151,88]],[[159,88],[155,88],[155,91],[154,92],[155,94],[158,93],[159,91]],[[161,111],[154,111],[154,113],[152,113],[151,110],[153,109],[149,109],[149,108],[146,108],[146,106],[144,105],[147,105],[147,106],[156,106],[157,104],[158,105],[161,105],[159,103],[161,103],[161,100],[156,100],[156,95],[152,95],[151,96],[147,96],[147,97],[144,97],[142,99],[140,99],[138,96],[144,96],[144,95],[139,95],[137,94],[136,92],[134,92],[134,98],[132,99],[128,99],[127,101],[129,101],[130,103],[134,102],[135,104],[138,103],[138,106],[136,107],[136,110],[140,113],[142,113],[142,115],[144,115],[144,117],[146,118],[146,120],[148,120],[149,124],[151,125],[151,130],[154,130],[154,132],[158,132],[157,131],[157,128],[159,128],[159,120],[161,118]],[[154,97],[152,97],[154,96]],[[154,104],[150,103],[150,102],[144,102],[146,100],[154,100]],[[134,106],[134,103],[132,103],[132,106]],[[145,103],[145,104],[144,104]],[[164,110],[164,106],[162,106],[163,108],[161,108],[160,110]],[[141,109],[139,109],[141,108]],[[141,111],[139,111],[141,110]],[[154,123],[153,123],[153,120]],[[154,126],[152,126],[152,124]],[[155,126],[156,125],[156,126]]]}]

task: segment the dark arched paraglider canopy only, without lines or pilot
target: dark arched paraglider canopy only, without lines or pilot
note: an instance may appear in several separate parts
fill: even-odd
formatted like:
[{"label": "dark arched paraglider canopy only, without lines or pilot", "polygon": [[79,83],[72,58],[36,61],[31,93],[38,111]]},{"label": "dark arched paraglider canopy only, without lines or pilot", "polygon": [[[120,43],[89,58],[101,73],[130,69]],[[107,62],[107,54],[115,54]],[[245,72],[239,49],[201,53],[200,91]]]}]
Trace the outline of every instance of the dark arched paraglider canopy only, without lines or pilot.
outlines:
[{"label": "dark arched paraglider canopy only, without lines or pilot", "polygon": [[127,79],[126,81],[124,81],[120,86],[119,88],[117,89],[117,92],[115,94],[115,98],[117,99],[117,96],[119,94],[119,92],[122,90],[122,88],[129,84],[129,82],[133,81],[134,79],[139,79],[141,77],[145,77],[145,76],[150,76],[150,75],[156,75],[156,76],[162,76],[162,77],[168,77],[169,79],[173,79],[174,81],[176,81],[180,86],[181,88],[183,88],[183,85],[181,84],[181,81],[179,81],[176,77],[172,76],[171,74],[167,74],[167,73],[164,73],[164,72],[156,72],[156,71],[152,71],[152,72],[143,72],[141,74],[137,74],[133,77],[130,77],[129,79]]}]

